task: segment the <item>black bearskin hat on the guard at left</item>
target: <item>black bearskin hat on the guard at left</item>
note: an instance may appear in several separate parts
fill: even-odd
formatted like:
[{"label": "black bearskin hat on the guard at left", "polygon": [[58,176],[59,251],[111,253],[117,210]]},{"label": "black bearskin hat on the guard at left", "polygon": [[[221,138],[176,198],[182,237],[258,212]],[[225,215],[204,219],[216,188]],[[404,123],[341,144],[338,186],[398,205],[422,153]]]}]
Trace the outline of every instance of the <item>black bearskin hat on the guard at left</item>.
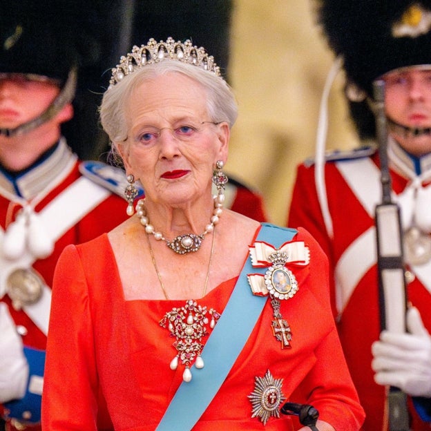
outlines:
[{"label": "black bearskin hat on the guard at left", "polygon": [[[2,1],[0,73],[43,75],[65,81],[77,61],[66,1]],[[73,2],[70,2],[73,3]]]}]

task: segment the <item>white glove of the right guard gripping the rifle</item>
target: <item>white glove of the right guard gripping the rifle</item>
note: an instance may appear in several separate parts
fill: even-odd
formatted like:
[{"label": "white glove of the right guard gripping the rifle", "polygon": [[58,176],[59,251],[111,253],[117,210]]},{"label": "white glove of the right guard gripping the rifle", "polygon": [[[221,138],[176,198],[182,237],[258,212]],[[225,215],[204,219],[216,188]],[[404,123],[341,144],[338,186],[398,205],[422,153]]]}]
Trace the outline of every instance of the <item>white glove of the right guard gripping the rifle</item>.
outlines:
[{"label": "white glove of the right guard gripping the rifle", "polygon": [[406,316],[410,333],[383,331],[372,345],[374,381],[412,396],[431,397],[431,336],[416,307]]}]

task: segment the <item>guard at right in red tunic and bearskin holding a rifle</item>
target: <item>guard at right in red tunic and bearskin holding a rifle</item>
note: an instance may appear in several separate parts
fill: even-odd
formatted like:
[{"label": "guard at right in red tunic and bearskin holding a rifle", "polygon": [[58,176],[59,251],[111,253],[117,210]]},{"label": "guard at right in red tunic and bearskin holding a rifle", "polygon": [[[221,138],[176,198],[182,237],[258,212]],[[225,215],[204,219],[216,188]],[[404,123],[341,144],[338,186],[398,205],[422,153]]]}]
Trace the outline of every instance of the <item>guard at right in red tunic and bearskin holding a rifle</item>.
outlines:
[{"label": "guard at right in red tunic and bearskin holding a rifle", "polygon": [[[315,160],[298,168],[288,223],[309,230],[329,257],[334,315],[366,412],[363,430],[405,429],[391,423],[390,388],[408,396],[408,429],[430,430],[431,1],[317,0],[316,6],[335,64],[345,71],[345,95],[364,146],[324,154],[318,135]],[[385,160],[376,140],[377,81],[387,126],[385,184],[401,213],[401,235],[387,238],[403,246],[408,312],[407,332],[400,334],[381,332],[379,313],[374,213]]]}]

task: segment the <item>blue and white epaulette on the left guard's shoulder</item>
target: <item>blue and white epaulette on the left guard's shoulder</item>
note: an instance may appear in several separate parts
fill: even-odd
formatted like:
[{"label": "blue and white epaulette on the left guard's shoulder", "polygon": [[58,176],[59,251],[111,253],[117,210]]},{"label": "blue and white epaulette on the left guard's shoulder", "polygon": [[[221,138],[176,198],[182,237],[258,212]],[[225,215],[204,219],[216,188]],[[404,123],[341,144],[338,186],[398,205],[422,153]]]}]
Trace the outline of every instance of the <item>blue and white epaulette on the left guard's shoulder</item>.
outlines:
[{"label": "blue and white epaulette on the left guard's shoulder", "polygon": [[[124,198],[124,189],[128,186],[126,174],[122,169],[116,168],[103,162],[88,160],[79,164],[79,172],[89,180],[99,184],[105,189],[111,190],[113,193]],[[135,182],[135,187],[138,191],[138,197],[144,195],[142,186]]]}]

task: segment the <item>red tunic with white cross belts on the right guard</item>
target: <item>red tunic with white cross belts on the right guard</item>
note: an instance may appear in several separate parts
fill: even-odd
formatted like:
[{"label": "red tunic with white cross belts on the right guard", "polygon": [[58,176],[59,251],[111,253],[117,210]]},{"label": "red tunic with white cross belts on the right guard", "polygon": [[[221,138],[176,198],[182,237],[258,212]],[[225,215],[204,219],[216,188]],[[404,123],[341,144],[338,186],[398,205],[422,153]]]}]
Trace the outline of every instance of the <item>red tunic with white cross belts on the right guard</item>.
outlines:
[{"label": "red tunic with white cross belts on the right guard", "polygon": [[[304,227],[323,247],[332,275],[332,307],[347,365],[365,409],[364,431],[385,430],[385,387],[374,383],[371,345],[379,339],[379,289],[376,268],[374,206],[381,200],[379,157],[372,153],[325,164],[327,203],[334,230],[330,238],[315,185],[315,166],[298,167],[289,209],[288,224]],[[401,195],[417,175],[413,162],[394,142],[390,142],[390,168],[394,199]],[[423,190],[431,180],[431,156],[421,159]],[[428,189],[431,190],[431,189]],[[429,197],[428,197],[429,199]],[[409,213],[414,202],[405,201],[401,211]],[[431,208],[431,200],[428,202]],[[410,267],[416,278],[408,285],[408,300],[421,312],[425,327],[431,330],[431,267]],[[409,401],[410,402],[410,401]],[[412,430],[430,430],[410,405]]]}]

